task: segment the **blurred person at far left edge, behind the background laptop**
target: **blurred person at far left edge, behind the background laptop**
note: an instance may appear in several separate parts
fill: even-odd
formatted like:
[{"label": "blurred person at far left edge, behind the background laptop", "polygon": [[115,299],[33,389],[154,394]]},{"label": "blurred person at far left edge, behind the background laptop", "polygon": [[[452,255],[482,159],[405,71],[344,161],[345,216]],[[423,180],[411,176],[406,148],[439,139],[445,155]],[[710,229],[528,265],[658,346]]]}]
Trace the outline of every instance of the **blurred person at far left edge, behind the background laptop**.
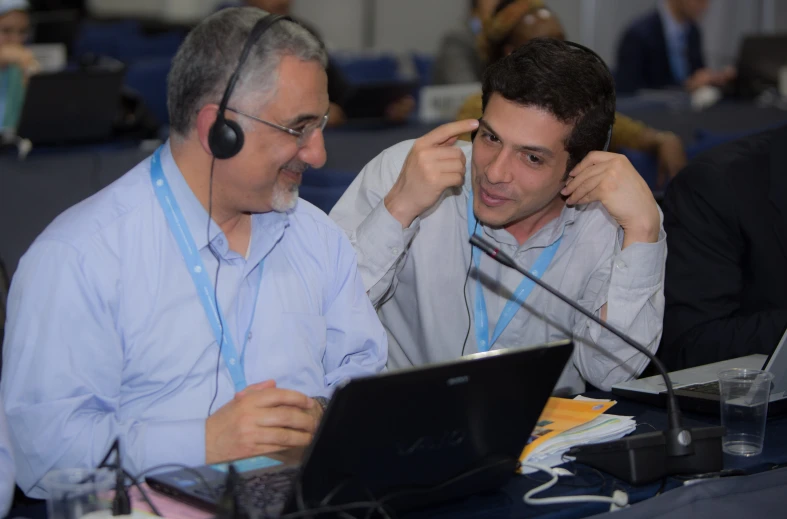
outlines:
[{"label": "blurred person at far left edge, behind the background laptop", "polygon": [[0,0],[0,129],[19,119],[27,79],[38,70],[33,53],[24,47],[30,33],[27,0]]}]

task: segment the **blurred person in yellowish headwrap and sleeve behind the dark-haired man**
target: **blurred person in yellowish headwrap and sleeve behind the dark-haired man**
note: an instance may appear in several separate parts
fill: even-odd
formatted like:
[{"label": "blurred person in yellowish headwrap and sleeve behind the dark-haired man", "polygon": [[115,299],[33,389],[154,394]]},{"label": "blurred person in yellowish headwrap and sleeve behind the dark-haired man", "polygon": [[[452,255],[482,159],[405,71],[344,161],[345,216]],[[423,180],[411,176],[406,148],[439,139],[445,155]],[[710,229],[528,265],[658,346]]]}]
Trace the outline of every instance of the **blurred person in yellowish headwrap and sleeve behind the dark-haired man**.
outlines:
[{"label": "blurred person in yellowish headwrap and sleeve behind the dark-haired man", "polygon": [[[503,0],[494,16],[484,24],[481,36],[479,52],[487,65],[511,54],[514,49],[534,38],[566,39],[560,20],[541,0]],[[481,113],[481,92],[478,92],[467,99],[457,118],[478,119]],[[463,138],[470,140],[470,135]],[[686,153],[677,135],[650,128],[617,113],[610,151],[616,152],[621,148],[655,156],[659,166],[656,187],[664,186],[686,165]]]}]

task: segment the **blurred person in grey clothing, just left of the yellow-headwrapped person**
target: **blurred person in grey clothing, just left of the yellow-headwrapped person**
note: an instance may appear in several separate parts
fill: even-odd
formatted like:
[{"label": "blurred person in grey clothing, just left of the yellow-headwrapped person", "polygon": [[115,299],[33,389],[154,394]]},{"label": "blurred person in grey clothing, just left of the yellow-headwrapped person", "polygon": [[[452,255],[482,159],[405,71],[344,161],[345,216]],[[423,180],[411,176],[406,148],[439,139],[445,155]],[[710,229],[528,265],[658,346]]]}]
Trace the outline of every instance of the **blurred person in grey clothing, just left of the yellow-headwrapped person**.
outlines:
[{"label": "blurred person in grey clothing, just left of the yellow-headwrapped person", "polygon": [[478,53],[476,39],[484,20],[495,12],[500,0],[471,0],[470,16],[459,29],[449,32],[440,43],[434,62],[432,84],[450,85],[481,81],[486,64]]}]

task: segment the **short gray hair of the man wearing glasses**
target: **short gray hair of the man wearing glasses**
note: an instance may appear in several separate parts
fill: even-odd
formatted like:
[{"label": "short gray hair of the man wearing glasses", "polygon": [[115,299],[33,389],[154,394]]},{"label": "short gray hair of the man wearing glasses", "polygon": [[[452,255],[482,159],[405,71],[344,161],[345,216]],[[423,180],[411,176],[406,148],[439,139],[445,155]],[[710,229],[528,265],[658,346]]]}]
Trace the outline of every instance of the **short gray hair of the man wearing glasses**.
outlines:
[{"label": "short gray hair of the man wearing glasses", "polygon": [[[167,78],[170,131],[185,137],[197,112],[219,103],[252,27],[268,13],[254,7],[222,9],[192,30],[172,60]],[[327,67],[328,56],[317,37],[303,26],[283,21],[272,25],[252,47],[232,99],[273,94],[284,56],[317,61]]]}]

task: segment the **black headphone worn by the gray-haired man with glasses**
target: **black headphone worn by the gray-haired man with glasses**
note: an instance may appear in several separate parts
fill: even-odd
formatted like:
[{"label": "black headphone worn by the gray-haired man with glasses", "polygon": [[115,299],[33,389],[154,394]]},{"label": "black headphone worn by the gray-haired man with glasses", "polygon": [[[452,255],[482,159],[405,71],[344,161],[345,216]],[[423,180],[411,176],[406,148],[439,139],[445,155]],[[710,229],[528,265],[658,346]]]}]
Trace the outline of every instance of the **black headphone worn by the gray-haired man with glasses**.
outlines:
[{"label": "black headphone worn by the gray-haired man with glasses", "polygon": [[216,121],[211,125],[210,132],[208,133],[208,146],[210,147],[210,152],[217,159],[229,159],[234,157],[243,148],[243,130],[237,122],[229,120],[224,116],[227,110],[227,104],[232,96],[232,91],[235,89],[235,83],[238,82],[243,64],[249,57],[251,48],[271,25],[282,20],[292,21],[289,16],[277,14],[270,14],[265,18],[261,18],[254,24],[254,27],[252,27],[249,33],[249,37],[246,38],[246,43],[240,53],[240,58],[238,58],[238,65],[230,76],[227,88],[224,90],[224,95],[221,97],[219,110],[216,112]]}]

